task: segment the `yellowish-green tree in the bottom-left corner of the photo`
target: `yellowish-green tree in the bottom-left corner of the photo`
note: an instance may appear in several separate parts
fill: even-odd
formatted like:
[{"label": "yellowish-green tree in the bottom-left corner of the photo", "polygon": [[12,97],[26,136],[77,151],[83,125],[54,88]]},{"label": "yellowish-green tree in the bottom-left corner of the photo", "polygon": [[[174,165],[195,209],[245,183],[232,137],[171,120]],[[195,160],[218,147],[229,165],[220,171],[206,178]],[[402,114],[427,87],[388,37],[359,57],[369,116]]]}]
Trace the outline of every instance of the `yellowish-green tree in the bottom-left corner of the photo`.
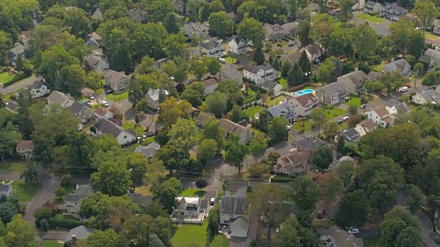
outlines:
[{"label": "yellowish-green tree in the bottom-left corner of the photo", "polygon": [[36,242],[36,230],[29,222],[25,222],[21,215],[12,217],[12,221],[6,225],[6,235],[3,241],[6,246],[39,246]]}]

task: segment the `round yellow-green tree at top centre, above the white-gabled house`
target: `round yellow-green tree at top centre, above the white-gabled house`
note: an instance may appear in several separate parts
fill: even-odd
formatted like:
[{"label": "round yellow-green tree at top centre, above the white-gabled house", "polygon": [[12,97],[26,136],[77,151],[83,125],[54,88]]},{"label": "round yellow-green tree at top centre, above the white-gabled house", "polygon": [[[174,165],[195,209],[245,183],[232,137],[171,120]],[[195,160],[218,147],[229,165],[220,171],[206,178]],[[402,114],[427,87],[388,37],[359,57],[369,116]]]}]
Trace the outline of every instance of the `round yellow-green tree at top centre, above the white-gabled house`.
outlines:
[{"label": "round yellow-green tree at top centre, above the white-gabled house", "polygon": [[254,45],[259,45],[265,39],[265,29],[263,24],[253,18],[246,18],[236,27],[236,33],[248,40],[252,40]]}]

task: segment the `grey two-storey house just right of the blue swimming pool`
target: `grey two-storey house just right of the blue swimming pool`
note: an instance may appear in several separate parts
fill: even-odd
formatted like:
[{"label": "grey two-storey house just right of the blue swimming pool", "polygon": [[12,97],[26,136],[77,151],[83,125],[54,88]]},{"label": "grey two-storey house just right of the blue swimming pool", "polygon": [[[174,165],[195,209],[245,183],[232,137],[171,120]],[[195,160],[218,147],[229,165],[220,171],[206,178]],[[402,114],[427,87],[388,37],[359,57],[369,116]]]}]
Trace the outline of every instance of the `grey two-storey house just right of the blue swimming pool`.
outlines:
[{"label": "grey two-storey house just right of the blue swimming pool", "polygon": [[332,106],[344,102],[349,96],[347,86],[340,82],[333,82],[315,89],[315,93],[321,104],[330,104]]}]

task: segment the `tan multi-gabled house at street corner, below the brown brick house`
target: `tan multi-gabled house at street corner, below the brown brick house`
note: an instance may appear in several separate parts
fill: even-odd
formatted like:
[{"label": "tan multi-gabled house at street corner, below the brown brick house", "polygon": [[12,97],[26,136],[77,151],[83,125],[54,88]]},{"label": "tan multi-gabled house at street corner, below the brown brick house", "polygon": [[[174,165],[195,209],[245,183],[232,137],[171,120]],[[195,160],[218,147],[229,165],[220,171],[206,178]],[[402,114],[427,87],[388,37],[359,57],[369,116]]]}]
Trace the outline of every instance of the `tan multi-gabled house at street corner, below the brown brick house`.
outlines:
[{"label": "tan multi-gabled house at street corner, below the brown brick house", "polygon": [[309,169],[307,154],[297,152],[296,149],[290,150],[290,153],[276,159],[274,172],[276,174],[296,174],[303,173]]}]

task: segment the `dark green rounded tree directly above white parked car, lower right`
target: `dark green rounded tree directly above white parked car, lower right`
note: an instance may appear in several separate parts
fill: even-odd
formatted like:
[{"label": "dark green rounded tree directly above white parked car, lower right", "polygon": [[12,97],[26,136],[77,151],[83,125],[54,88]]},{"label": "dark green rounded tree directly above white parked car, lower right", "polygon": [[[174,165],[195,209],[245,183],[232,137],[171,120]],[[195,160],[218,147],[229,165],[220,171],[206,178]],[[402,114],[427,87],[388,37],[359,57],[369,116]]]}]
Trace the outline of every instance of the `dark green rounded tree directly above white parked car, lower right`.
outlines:
[{"label": "dark green rounded tree directly above white parked car, lower right", "polygon": [[364,191],[356,190],[345,195],[336,211],[336,224],[342,227],[363,226],[369,213],[368,199]]}]

